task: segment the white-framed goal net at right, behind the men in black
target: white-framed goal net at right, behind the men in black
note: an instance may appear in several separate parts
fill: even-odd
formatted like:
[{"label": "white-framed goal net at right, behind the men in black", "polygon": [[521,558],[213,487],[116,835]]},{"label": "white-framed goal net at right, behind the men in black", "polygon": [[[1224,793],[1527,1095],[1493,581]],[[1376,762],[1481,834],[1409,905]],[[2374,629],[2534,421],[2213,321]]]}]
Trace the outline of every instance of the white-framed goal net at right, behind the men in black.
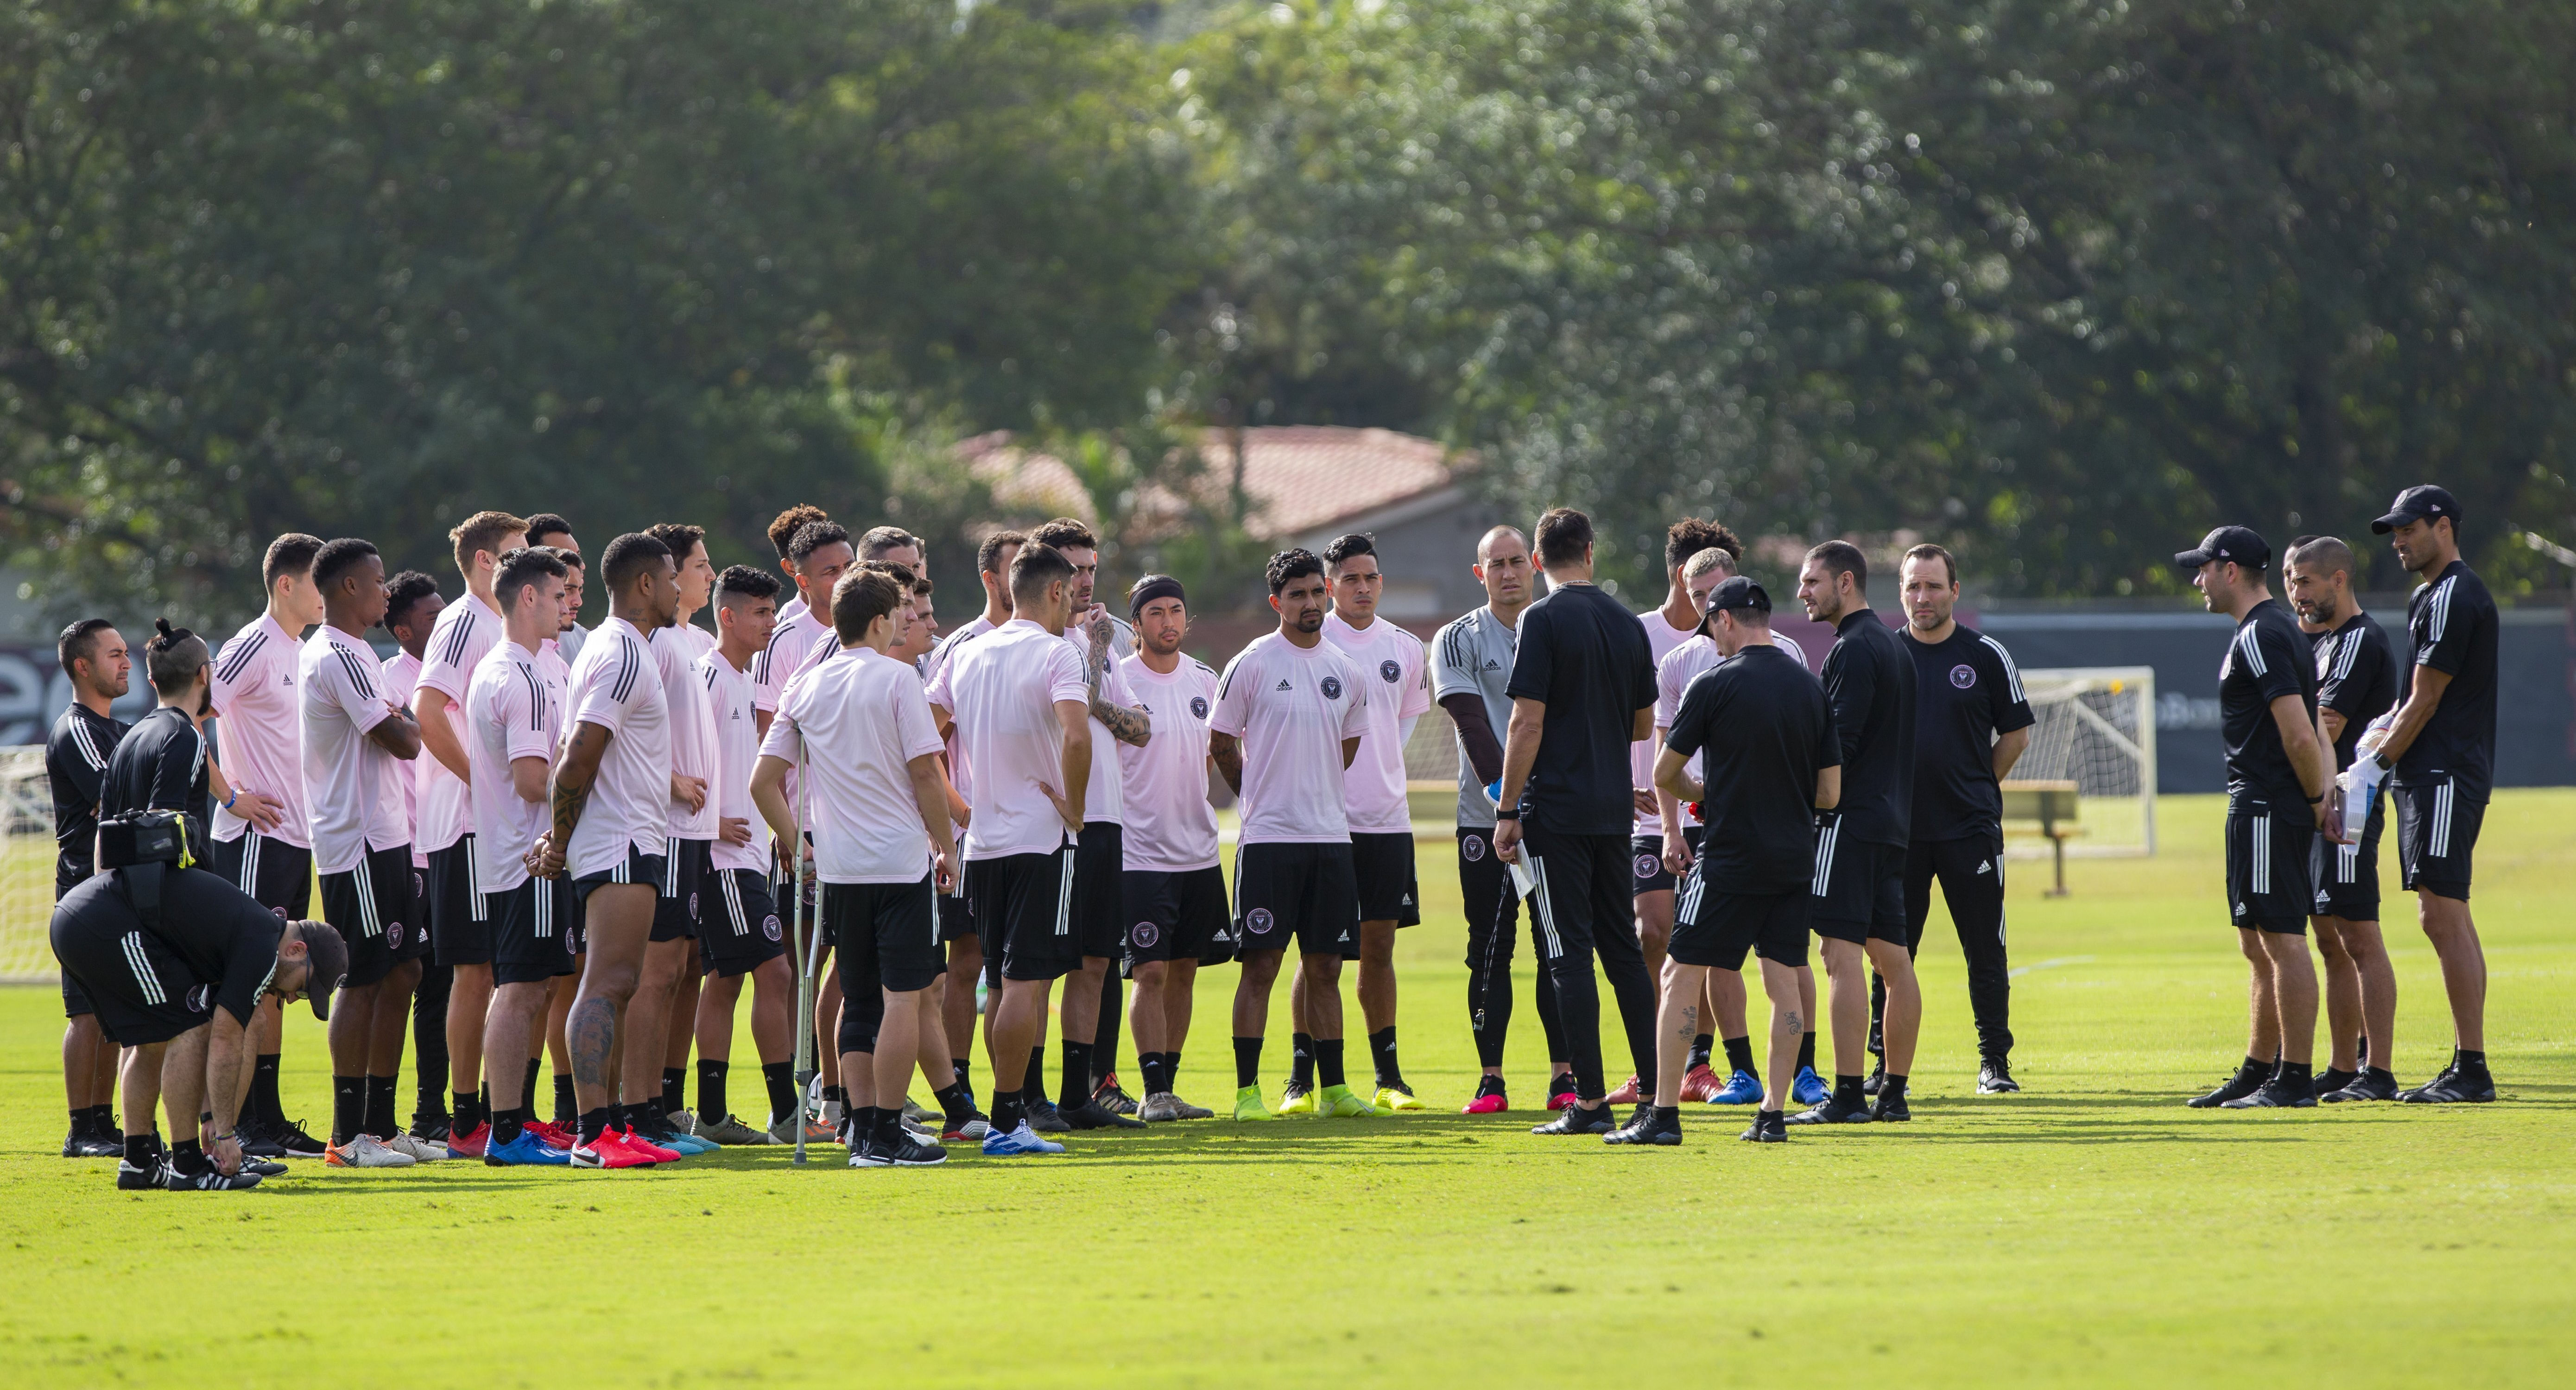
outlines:
[{"label": "white-framed goal net at right, behind the men in black", "polygon": [[[2069,855],[2156,852],[2156,669],[2056,667],[2025,669],[2030,752],[2012,783],[2074,783],[2076,824]],[[2012,855],[2045,855],[2040,837],[2012,834]]]}]

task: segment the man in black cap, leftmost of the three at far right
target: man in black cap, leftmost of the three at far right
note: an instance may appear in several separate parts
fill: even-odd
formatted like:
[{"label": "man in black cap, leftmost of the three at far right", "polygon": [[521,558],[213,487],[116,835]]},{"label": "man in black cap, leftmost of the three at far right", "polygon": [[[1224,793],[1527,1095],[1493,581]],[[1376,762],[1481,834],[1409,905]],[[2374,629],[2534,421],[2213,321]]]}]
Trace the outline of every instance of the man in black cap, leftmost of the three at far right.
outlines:
[{"label": "man in black cap, leftmost of the three at far right", "polygon": [[[2218,662],[2218,721],[2228,746],[2228,914],[2254,970],[2246,1061],[2195,1107],[2316,1104],[2316,968],[2308,963],[2308,844],[2331,780],[2316,736],[2316,669],[2290,610],[2272,602],[2272,546],[2221,525],[2174,556],[2210,613],[2236,618]],[[2275,1063],[2275,1055],[2280,1058]]]}]

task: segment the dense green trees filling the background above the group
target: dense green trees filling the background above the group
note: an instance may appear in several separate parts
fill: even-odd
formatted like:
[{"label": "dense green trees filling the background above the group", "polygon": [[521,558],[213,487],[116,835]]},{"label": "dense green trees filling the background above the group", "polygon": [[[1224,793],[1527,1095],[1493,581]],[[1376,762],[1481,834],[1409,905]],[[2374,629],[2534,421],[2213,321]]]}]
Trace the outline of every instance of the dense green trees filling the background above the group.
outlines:
[{"label": "dense green trees filling the background above the group", "polygon": [[757,559],[814,499],[963,574],[953,438],[1115,512],[1198,425],[1342,422],[1633,579],[1700,512],[2159,592],[2439,479],[2527,589],[2571,67],[2501,0],[44,0],[0,525],[52,607],[198,618],[276,530],[428,566],[479,505]]}]

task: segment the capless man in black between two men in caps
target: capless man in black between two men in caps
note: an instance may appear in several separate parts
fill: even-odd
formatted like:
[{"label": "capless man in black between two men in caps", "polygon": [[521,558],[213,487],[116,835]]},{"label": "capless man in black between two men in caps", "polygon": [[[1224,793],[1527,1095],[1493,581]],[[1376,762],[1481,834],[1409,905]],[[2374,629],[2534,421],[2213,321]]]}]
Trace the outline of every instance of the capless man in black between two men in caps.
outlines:
[{"label": "capless man in black between two men in caps", "polygon": [[[2300,535],[2280,566],[2280,584],[2298,610],[2298,628],[2316,651],[2316,726],[2334,749],[2334,770],[2352,767],[2362,731],[2398,703],[2396,654],[2378,620],[2352,592],[2352,546],[2334,535]],[[2329,806],[2336,793],[2329,793]],[[2316,1099],[2396,1099],[2388,1071],[2398,1017],[2398,978],[2380,940],[2380,813],[2378,788],[2360,824],[2344,824],[2349,842],[2316,837],[2308,880],[2316,891],[2316,955],[2326,963],[2326,1048],[2331,1063],[2316,1073]],[[2362,1061],[2362,1048],[2380,1066]],[[2349,1089],[2349,1094],[2347,1094]]]}]

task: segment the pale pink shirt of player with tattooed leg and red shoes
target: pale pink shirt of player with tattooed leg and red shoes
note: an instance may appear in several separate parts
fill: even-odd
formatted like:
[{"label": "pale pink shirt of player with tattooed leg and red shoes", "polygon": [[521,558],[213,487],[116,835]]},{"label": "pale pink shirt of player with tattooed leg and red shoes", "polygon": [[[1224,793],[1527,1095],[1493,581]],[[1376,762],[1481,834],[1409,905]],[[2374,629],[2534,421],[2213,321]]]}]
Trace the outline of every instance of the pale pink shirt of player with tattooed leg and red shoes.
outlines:
[{"label": "pale pink shirt of player with tattooed leg and red shoes", "polygon": [[572,878],[611,873],[629,852],[659,855],[670,834],[670,703],[644,633],[603,618],[572,664],[564,728],[598,723],[608,752],[572,826],[564,867]]}]

